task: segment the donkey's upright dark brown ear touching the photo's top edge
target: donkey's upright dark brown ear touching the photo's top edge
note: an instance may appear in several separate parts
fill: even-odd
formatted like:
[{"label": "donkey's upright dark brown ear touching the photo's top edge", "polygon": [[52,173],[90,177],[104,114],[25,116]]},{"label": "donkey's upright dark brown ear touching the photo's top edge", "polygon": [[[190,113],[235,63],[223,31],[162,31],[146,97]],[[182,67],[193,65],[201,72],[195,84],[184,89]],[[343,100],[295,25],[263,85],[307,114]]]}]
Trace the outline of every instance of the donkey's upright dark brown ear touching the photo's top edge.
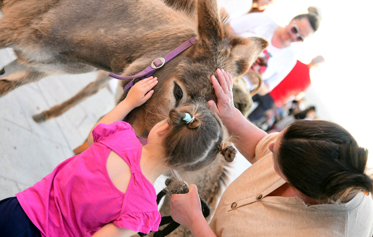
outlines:
[{"label": "donkey's upright dark brown ear touching the photo's top edge", "polygon": [[198,36],[207,46],[216,45],[225,36],[216,0],[198,0]]}]

